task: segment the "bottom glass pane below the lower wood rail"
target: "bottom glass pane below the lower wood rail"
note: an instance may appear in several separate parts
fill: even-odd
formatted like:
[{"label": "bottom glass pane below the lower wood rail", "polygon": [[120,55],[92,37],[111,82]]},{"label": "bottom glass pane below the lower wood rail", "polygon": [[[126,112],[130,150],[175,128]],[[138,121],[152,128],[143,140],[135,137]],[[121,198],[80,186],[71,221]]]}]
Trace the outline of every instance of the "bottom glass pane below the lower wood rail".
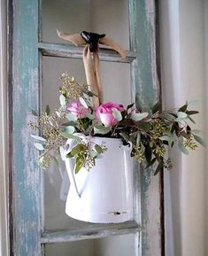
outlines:
[{"label": "bottom glass pane below the lower wood rail", "polygon": [[46,256],[134,256],[134,235],[122,235],[63,244],[46,244]]}]

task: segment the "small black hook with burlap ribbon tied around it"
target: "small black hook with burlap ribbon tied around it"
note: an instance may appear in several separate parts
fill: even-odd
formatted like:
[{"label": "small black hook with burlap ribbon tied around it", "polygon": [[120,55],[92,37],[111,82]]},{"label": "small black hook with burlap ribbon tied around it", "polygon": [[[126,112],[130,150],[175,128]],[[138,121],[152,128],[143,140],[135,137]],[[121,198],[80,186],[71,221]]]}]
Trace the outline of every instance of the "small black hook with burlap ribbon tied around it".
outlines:
[{"label": "small black hook with burlap ribbon tied around it", "polygon": [[98,43],[99,43],[99,39],[103,38],[105,35],[99,35],[96,33],[91,33],[91,32],[87,32],[87,31],[82,31],[81,32],[81,37],[84,39],[84,41],[86,43],[89,43],[89,50],[91,52],[95,52],[98,50]]}]

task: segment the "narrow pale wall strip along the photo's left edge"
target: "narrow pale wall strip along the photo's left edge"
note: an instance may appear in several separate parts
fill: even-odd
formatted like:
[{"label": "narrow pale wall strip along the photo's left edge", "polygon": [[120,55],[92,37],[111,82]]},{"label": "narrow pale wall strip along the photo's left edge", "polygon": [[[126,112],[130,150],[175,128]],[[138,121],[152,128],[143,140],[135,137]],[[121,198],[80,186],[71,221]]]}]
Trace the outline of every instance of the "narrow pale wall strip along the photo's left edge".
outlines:
[{"label": "narrow pale wall strip along the photo's left edge", "polygon": [[6,1],[0,1],[0,255],[7,255],[6,213]]}]

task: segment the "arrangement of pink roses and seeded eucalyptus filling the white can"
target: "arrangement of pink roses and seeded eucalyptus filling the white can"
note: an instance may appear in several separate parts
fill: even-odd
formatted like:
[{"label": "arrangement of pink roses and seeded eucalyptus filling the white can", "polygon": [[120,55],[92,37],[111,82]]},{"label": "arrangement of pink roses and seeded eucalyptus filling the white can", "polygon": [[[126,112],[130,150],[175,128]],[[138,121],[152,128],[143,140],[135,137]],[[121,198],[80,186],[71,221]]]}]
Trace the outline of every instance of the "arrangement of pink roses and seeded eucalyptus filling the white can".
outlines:
[{"label": "arrangement of pink roses and seeded eucalyptus filling the white can", "polygon": [[[123,144],[133,145],[131,157],[144,167],[158,162],[155,175],[163,168],[170,169],[172,162],[166,159],[168,147],[177,142],[179,149],[188,154],[197,144],[204,144],[199,131],[190,128],[189,122],[195,123],[192,115],[197,111],[189,110],[186,103],[176,110],[161,111],[157,103],[149,112],[142,112],[135,104],[119,105],[107,102],[93,106],[94,93],[87,84],[75,81],[67,73],[61,76],[59,88],[60,107],[50,112],[47,105],[42,116],[35,116],[29,125],[40,131],[42,136],[32,135],[35,147],[41,151],[39,164],[43,168],[50,166],[52,159],[63,156],[65,142],[73,140],[73,148],[66,157],[75,158],[75,173],[85,167],[88,170],[96,165],[96,159],[107,151],[104,144],[93,144],[93,136],[120,138]],[[86,140],[77,136],[81,133]]]}]

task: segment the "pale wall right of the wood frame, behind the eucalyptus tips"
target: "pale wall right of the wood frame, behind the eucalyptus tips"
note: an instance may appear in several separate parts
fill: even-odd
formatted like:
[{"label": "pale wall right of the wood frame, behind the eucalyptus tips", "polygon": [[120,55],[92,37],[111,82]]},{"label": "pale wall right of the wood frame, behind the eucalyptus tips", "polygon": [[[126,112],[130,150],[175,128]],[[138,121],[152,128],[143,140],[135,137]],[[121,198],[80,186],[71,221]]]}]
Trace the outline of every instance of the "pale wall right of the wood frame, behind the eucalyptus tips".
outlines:
[{"label": "pale wall right of the wood frame, behind the eucalyptus tips", "polygon": [[[205,1],[207,2],[207,1]],[[206,3],[207,4],[207,3]],[[166,107],[199,99],[196,127],[205,128],[204,1],[160,2],[163,97]],[[165,174],[166,255],[204,256],[205,149],[189,157],[172,152],[174,168]]]}]

